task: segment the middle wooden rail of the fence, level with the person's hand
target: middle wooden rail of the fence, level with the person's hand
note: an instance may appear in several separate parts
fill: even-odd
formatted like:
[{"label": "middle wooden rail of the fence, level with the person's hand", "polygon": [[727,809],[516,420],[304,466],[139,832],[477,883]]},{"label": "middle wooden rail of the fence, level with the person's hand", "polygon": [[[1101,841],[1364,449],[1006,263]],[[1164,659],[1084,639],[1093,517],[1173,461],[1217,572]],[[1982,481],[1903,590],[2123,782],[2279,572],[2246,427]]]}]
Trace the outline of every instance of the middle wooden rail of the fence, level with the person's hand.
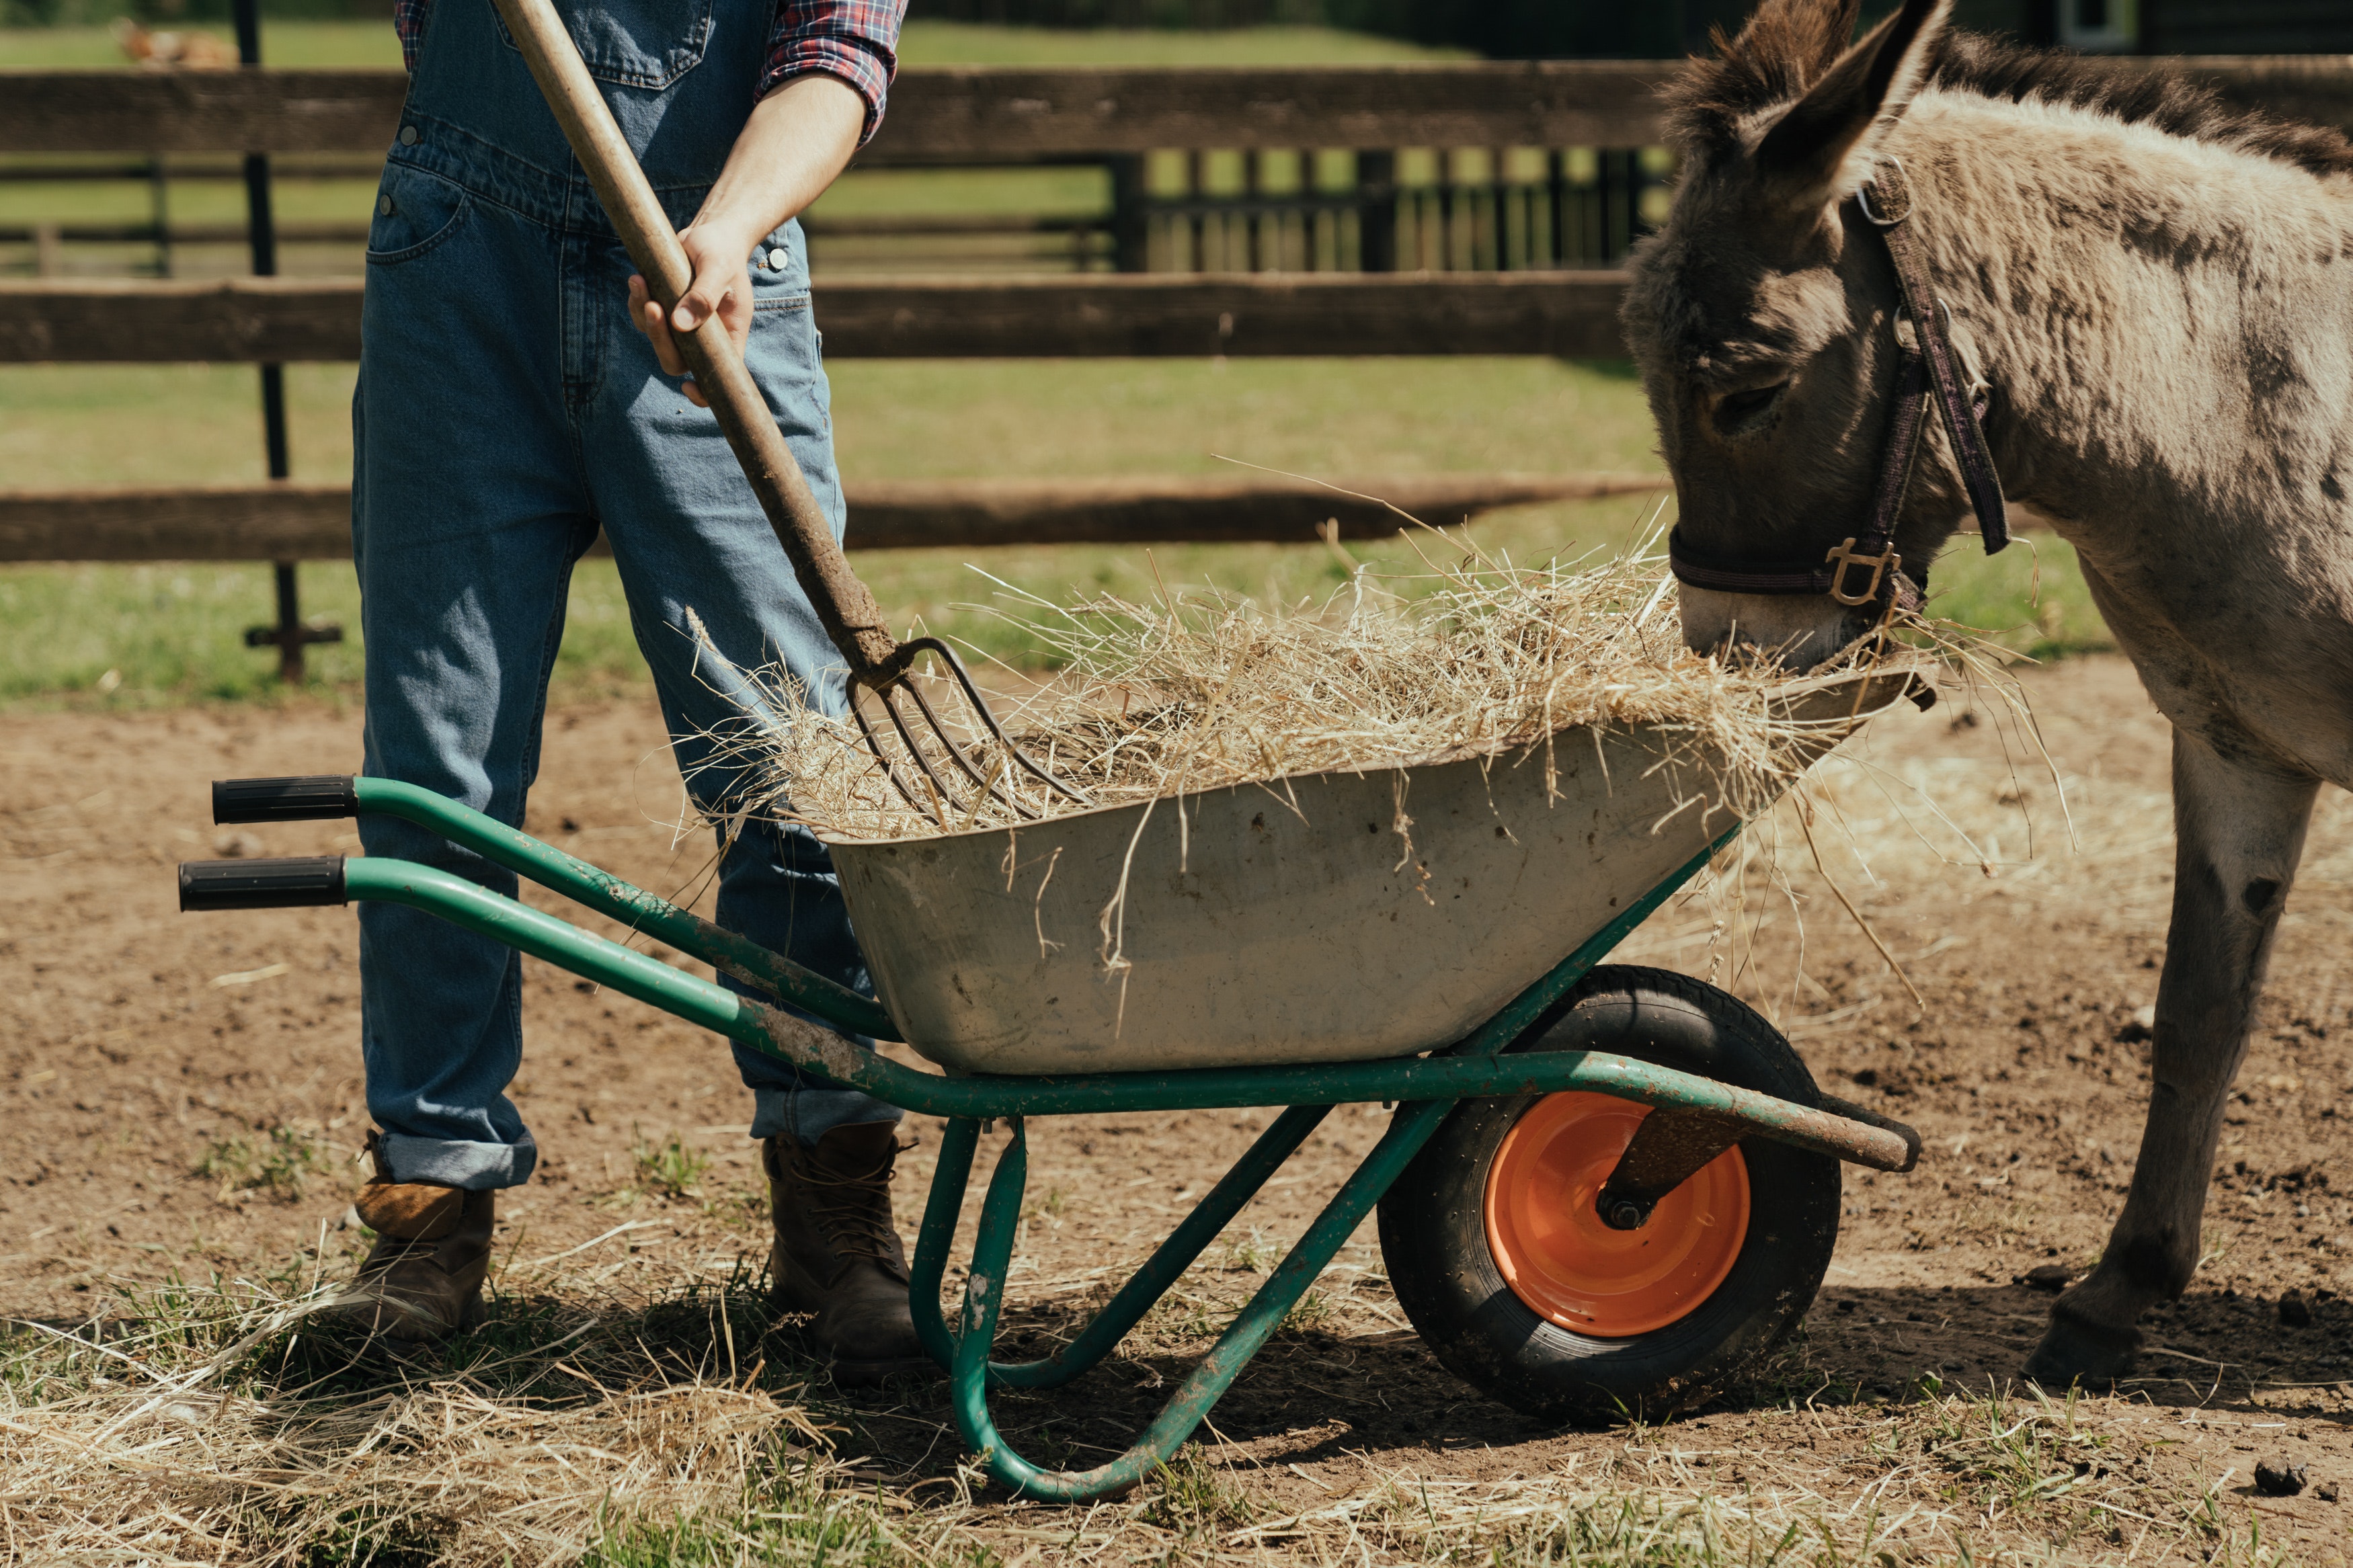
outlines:
[{"label": "middle wooden rail of the fence, level with the person's hand", "polygon": [[[835,357],[1621,357],[1619,273],[819,280]],[[360,357],[360,280],[0,280],[0,362]]]}]

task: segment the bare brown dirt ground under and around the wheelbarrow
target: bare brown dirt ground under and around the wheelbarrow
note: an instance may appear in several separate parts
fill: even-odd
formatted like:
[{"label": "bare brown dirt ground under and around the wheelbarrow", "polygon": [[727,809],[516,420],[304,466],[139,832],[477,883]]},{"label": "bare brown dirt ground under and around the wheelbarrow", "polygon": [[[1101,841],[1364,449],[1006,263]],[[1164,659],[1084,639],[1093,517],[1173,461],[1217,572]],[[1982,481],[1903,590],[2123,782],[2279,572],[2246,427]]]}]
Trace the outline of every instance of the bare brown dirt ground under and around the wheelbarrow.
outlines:
[{"label": "bare brown dirt ground under and around the wheelbarrow", "polygon": [[[1699,976],[1713,966],[1788,1030],[1828,1091],[1927,1138],[1911,1175],[1849,1171],[1838,1260],[1781,1359],[1664,1427],[1546,1429],[1421,1349],[1367,1222],[1212,1415],[1205,1455],[1231,1493],[1212,1530],[1221,1552],[1329,1542],[1325,1523],[1339,1519],[1341,1540],[1365,1547],[1341,1556],[1377,1561],[1369,1521],[1388,1509],[1395,1535],[1398,1500],[1417,1488],[1433,1526],[1473,1505],[1504,1519],[1544,1497],[1638,1488],[1781,1507],[1831,1533],[1882,1509],[1911,1519],[1918,1542],[1974,1533],[2026,1554],[2045,1542],[2212,1561],[2221,1547],[2252,1556],[2252,1528],[2264,1552],[2344,1559],[2353,1497],[2339,1505],[2334,1490],[2353,1488],[2353,1178],[2339,1157],[2353,1152],[2341,1114],[2353,1070],[2329,1041],[2353,1011],[2353,985],[2341,985],[2353,931],[2344,797],[2322,804],[2282,924],[2207,1206],[2207,1262],[2151,1319],[2139,1380],[2040,1415],[2031,1396],[1991,1403],[1984,1434],[1962,1429],[1977,1406],[1958,1394],[2009,1385],[2047,1312],[2049,1295],[2019,1276],[2087,1267],[2122,1204],[2172,882],[2167,738],[2129,668],[2073,661],[2031,675],[2028,689],[2075,849],[2049,773],[2028,766],[1993,708],[1946,701],[1885,719],[1864,762],[1824,771],[1817,823],[1842,830],[1828,872],[1901,959],[1922,1009],[1814,872],[1793,875],[1786,896],[1753,896],[1722,926],[1722,907],[1668,907],[1621,950]],[[353,851],[348,823],[216,830],[205,783],[348,771],[358,757],[358,715],[325,705],[0,719],[0,1312],[78,1319],[113,1281],[172,1269],[311,1276],[346,1265],[339,1227],[367,1128],[353,917],[184,917],[172,865]],[[1951,825],[1918,799],[1904,806],[1911,788]],[[532,832],[685,896],[708,851],[701,835],[673,832],[675,813],[678,776],[649,703],[551,715]],[[1955,849],[1955,830],[1974,856]],[[1802,957],[1791,910],[1805,917]],[[1732,926],[1755,933],[1746,966],[1727,945]],[[725,1051],[555,969],[527,973],[515,1100],[541,1168],[501,1199],[506,1288],[562,1267],[581,1286],[659,1291],[755,1255],[748,1093]],[[1035,1124],[1012,1338],[1068,1328],[1268,1114]],[[1384,1124],[1381,1107],[1341,1107],[1108,1366],[1059,1394],[1000,1401],[1012,1441],[1078,1465],[1122,1448]],[[911,1131],[922,1145],[901,1190],[908,1232],[936,1147],[934,1126]],[[685,1166],[664,1166],[671,1138]],[[984,1145],[984,1166],[998,1143]],[[313,1152],[322,1164],[306,1168]],[[708,1159],[699,1173],[694,1157]],[[2308,1326],[2282,1326],[2287,1291],[2313,1302]],[[2021,1408],[2019,1432],[2042,1448],[2012,1462],[2002,1455],[2019,1441],[2000,1413]],[[866,1455],[861,1474],[915,1495],[955,1486],[939,1389],[833,1410],[849,1450]],[[1953,1432],[1939,1439],[1937,1422]],[[2254,1465],[2275,1455],[2308,1465],[2311,1488],[2257,1495]],[[1085,1509],[1019,1505],[976,1528],[1012,1561],[1118,1561],[1172,1540],[1165,1514],[1122,1519],[1113,1528]]]}]

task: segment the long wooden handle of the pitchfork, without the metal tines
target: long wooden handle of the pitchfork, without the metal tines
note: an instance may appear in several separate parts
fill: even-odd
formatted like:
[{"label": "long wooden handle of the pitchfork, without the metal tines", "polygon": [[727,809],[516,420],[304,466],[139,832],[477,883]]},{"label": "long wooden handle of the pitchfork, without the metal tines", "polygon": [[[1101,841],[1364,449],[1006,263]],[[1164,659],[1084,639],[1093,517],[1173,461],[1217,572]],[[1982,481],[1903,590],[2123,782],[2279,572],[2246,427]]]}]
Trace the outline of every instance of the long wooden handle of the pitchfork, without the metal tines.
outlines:
[{"label": "long wooden handle of the pitchfork, without the metal tines", "polygon": [[[572,42],[562,16],[555,14],[551,0],[494,0],[494,5],[506,31],[513,33],[515,47],[522,49],[532,80],[539,82],[548,108],[555,110],[555,122],[562,127],[565,141],[572,143],[572,155],[588,172],[588,183],[595,186],[605,216],[612,219],[621,244],[628,247],[628,259],[645,275],[647,292],[661,301],[664,313],[675,310],[678,296],[694,284],[687,247],[678,242],[671,214],[654,200],[654,186],[638,167],[638,155],[628,150],[621,127],[614,125],[612,108],[605,106],[605,94],[598,92],[588,66],[581,63],[579,45]],[[833,524],[819,510],[807,475],[793,461],[793,449],[784,444],[784,433],[767,411],[767,400],[760,397],[760,388],[718,313],[694,331],[673,327],[671,339],[687,369],[694,371],[694,386],[718,414],[720,430],[727,433],[727,444],[734,447],[736,461],[744,465],[744,477],[760,496],[760,510],[776,529],[776,543],[793,562],[800,590],[809,595],[833,646],[849,661],[852,679],[875,689],[901,679],[913,654],[889,635],[882,607],[849,569],[840,541],[833,538]]]}]

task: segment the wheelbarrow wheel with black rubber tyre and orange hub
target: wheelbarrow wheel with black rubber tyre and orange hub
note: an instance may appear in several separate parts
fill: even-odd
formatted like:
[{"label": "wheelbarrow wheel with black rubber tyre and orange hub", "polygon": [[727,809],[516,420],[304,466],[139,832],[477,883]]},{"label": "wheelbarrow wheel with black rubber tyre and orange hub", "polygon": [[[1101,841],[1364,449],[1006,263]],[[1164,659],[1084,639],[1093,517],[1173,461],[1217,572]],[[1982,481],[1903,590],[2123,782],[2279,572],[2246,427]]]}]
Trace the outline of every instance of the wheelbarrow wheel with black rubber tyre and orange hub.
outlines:
[{"label": "wheelbarrow wheel with black rubber tyre and orange hub", "polygon": [[[1781,1032],[1664,969],[1586,976],[1513,1051],[1609,1051],[1814,1105]],[[1772,1349],[1838,1244],[1838,1161],[1748,1138],[1642,1229],[1593,1197],[1647,1107],[1600,1093],[1464,1100],[1381,1199],[1398,1305],[1457,1378],[1548,1420],[1668,1415]]]}]

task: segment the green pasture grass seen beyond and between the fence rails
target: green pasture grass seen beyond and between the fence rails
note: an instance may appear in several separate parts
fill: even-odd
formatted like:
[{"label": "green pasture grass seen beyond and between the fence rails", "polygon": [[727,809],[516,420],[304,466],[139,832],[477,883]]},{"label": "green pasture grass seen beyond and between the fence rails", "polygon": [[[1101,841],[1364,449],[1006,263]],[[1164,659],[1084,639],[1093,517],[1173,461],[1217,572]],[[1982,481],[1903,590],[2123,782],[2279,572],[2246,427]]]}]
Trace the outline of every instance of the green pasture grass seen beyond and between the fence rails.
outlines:
[{"label": "green pasture grass seen beyond and between the fence rails", "polygon": [[[386,24],[271,21],[268,59],[391,66]],[[1242,33],[1089,33],[913,21],[911,63],[1348,63],[1431,52],[1322,28]],[[108,66],[104,28],[0,28],[0,66]],[[235,186],[184,186],[186,221],[242,216]],[[287,181],[285,219],[367,214],[362,181]],[[136,183],[0,183],[0,221],[146,216]],[[1099,212],[1092,169],[852,172],[821,212]],[[226,252],[224,252],[226,254]],[[202,261],[202,256],[195,256]],[[228,256],[224,266],[242,266]],[[355,256],[306,249],[289,268],[353,270]],[[819,280],[821,289],[821,280]],[[819,294],[819,317],[824,299]],[[894,477],[1240,473],[1217,454],[1348,482],[1365,475],[1565,473],[1657,468],[1640,390],[1624,367],[1539,360],[1233,360],[1205,362],[838,362],[835,430],[845,473]],[[339,480],[351,465],[351,367],[289,371],[294,473]],[[254,376],[245,367],[0,367],[0,484],[209,484],[261,477]],[[1619,548],[1649,515],[1640,501],[1525,508],[1480,522],[1478,538],[1534,562]],[[1431,520],[1447,522],[1447,520]],[[2052,538],[2000,559],[1960,541],[1937,567],[1937,609],[2047,658],[2106,646],[2073,552]],[[1384,574],[1417,574],[1398,543],[1351,545]],[[1329,592],[1346,571],[1322,548],[974,550],[861,555],[859,569],[901,625],[922,623],[993,658],[1035,668],[1026,637],[960,609],[995,592],[986,571],[1045,597],[1151,592],[1155,581],[1217,583],[1261,599]],[[976,571],[974,571],[976,569]],[[311,651],[313,684],[348,696],[362,649],[351,571],[304,567],[308,614],[353,642]],[[271,656],[242,630],[271,616],[264,564],[0,567],[0,708],[155,708],[275,701]],[[558,701],[638,689],[645,665],[609,562],[581,562]]]}]

